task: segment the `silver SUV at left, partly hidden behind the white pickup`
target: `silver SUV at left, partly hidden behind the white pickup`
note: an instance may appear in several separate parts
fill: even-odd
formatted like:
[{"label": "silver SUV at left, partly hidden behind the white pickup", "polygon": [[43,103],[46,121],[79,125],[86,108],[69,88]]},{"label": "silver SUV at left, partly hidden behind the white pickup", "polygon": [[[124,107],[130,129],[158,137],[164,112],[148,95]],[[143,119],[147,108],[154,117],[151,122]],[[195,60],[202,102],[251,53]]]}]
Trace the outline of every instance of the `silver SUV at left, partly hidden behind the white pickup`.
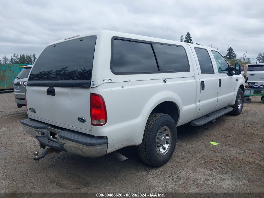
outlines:
[{"label": "silver SUV at left, partly hidden behind the white pickup", "polygon": [[32,66],[24,66],[13,83],[15,102],[17,103],[18,108],[26,106],[25,93],[27,86],[27,77],[31,68]]}]

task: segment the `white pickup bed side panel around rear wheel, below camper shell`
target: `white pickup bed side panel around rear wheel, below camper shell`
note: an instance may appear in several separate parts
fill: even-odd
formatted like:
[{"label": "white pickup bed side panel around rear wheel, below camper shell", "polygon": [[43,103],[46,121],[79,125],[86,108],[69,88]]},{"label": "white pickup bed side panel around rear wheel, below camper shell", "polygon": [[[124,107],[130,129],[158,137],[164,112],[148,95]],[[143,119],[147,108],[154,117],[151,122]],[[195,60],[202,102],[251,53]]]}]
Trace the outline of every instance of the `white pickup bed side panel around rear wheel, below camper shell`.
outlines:
[{"label": "white pickup bed side panel around rear wheel, below camper shell", "polygon": [[[185,86],[190,87],[186,91]],[[164,101],[178,106],[178,125],[187,123],[195,114],[196,82],[193,77],[105,83],[92,88],[92,93],[102,95],[106,103],[107,124],[92,126],[92,134],[108,137],[108,150],[112,152],[125,146],[142,142],[144,128],[151,111]]]}]

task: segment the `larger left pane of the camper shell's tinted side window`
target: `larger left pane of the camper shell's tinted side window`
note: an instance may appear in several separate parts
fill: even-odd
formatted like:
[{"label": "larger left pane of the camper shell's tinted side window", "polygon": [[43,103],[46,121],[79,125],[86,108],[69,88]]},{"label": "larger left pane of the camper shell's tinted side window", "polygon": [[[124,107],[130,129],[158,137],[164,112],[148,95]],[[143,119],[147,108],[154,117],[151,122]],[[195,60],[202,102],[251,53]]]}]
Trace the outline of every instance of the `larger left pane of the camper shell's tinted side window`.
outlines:
[{"label": "larger left pane of the camper shell's tinted side window", "polygon": [[114,73],[158,72],[151,44],[120,39],[113,40],[111,67]]}]

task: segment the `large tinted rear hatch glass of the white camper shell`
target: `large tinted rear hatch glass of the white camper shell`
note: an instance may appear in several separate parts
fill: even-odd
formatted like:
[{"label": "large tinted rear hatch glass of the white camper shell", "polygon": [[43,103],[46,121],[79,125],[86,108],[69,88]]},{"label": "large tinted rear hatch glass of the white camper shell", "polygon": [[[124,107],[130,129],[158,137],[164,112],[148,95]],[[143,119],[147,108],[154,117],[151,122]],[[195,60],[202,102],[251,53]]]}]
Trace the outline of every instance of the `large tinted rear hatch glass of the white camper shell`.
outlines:
[{"label": "large tinted rear hatch glass of the white camper shell", "polygon": [[28,80],[91,80],[95,41],[89,36],[46,47]]}]

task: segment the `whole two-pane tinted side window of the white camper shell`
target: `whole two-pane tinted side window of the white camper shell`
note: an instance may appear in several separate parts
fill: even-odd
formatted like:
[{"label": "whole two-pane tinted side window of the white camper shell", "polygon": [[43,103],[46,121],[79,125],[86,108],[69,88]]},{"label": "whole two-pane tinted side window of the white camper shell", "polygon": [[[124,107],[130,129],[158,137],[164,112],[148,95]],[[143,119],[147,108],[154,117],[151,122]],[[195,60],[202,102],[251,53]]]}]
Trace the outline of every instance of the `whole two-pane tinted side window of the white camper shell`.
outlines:
[{"label": "whole two-pane tinted side window of the white camper shell", "polygon": [[111,71],[114,74],[189,72],[183,46],[112,38]]}]

